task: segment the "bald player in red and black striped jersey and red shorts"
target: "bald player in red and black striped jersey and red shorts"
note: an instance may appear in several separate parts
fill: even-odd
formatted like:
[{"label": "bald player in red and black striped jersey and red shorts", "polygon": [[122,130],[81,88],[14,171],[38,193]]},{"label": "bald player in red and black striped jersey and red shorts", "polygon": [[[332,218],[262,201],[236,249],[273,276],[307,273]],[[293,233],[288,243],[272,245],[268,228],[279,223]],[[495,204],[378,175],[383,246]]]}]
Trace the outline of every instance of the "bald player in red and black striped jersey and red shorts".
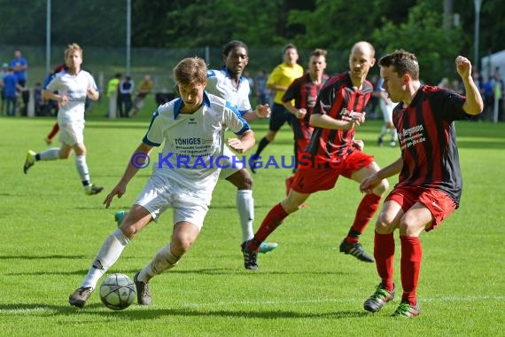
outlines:
[{"label": "bald player in red and black striped jersey and red shorts", "polygon": [[[363,109],[373,91],[366,77],[375,64],[374,54],[370,43],[355,43],[349,56],[350,71],[330,78],[322,87],[310,117],[315,131],[305,153],[299,158],[291,192],[268,212],[254,238],[247,241],[245,263],[256,264],[260,243],[284,218],[297,211],[311,193],[330,190],[337,183],[338,176],[360,183],[379,170],[372,156],[354,146],[354,129],[365,121]],[[384,179],[361,200],[351,230],[340,244],[341,252],[354,255],[363,262],[374,261],[361,247],[359,237],[376,213],[387,188]]]}]

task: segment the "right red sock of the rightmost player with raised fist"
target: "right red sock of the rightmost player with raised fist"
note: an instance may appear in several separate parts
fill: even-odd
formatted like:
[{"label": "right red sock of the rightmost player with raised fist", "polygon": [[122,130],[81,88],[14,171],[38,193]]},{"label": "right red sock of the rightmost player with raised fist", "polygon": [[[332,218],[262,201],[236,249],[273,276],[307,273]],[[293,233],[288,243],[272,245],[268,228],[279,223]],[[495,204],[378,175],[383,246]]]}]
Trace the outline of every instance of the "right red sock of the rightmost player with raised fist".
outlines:
[{"label": "right red sock of the rightmost player with raised fist", "polygon": [[408,301],[411,305],[416,305],[416,289],[419,280],[419,270],[421,269],[421,259],[423,250],[421,240],[415,237],[400,236],[401,240],[401,286],[403,295],[401,301]]}]

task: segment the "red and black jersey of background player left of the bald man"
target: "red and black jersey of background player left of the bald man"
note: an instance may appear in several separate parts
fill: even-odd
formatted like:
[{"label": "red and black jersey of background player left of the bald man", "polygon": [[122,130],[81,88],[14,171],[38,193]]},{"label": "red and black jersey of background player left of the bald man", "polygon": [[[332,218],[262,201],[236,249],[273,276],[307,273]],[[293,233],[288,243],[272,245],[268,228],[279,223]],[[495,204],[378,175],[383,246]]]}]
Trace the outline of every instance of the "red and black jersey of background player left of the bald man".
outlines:
[{"label": "red and black jersey of background player left of the bald man", "polygon": [[295,107],[307,110],[307,114],[303,119],[293,118],[292,128],[295,139],[310,139],[312,137],[314,128],[310,126],[310,115],[314,110],[317,94],[328,78],[327,74],[322,74],[321,83],[315,83],[312,82],[310,74],[306,73],[294,80],[288,90],[284,92],[283,102],[289,102],[294,99]]}]

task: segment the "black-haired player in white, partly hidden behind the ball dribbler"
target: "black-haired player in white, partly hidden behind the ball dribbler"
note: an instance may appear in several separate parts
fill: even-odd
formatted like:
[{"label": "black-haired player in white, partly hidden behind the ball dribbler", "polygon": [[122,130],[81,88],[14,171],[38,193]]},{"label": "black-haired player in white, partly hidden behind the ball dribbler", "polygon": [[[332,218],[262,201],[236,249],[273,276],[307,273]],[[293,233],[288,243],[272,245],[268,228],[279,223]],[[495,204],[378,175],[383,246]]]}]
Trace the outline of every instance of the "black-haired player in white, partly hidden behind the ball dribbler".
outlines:
[{"label": "black-haired player in white, partly hidden behind the ball dribbler", "polygon": [[[219,70],[207,71],[206,91],[237,106],[238,111],[246,121],[253,121],[257,117],[268,117],[270,108],[268,105],[259,105],[255,110],[249,101],[250,86],[247,79],[242,75],[249,62],[247,45],[242,41],[227,43],[222,51],[224,67]],[[224,149],[227,161],[227,169],[221,170],[221,179],[228,180],[237,187],[237,210],[242,228],[242,242],[253,238],[254,200],[253,178],[245,169],[240,159],[234,160],[235,155]],[[277,247],[276,243],[263,242],[260,253],[267,253]],[[247,266],[245,266],[247,268]]]}]

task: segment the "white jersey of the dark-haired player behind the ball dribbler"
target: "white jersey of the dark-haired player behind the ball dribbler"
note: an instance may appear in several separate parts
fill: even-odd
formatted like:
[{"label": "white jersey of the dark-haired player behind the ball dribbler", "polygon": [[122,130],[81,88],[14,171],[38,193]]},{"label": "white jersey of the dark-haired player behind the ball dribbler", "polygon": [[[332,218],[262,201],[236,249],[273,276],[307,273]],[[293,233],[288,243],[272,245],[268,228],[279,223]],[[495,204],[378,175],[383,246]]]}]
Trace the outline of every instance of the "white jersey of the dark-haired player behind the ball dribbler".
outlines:
[{"label": "white jersey of the dark-haired player behind the ball dribbler", "polygon": [[237,106],[241,115],[253,110],[249,101],[251,91],[249,82],[244,76],[240,76],[238,86],[235,85],[226,67],[221,70],[207,70],[206,91],[226,99],[233,106]]}]

